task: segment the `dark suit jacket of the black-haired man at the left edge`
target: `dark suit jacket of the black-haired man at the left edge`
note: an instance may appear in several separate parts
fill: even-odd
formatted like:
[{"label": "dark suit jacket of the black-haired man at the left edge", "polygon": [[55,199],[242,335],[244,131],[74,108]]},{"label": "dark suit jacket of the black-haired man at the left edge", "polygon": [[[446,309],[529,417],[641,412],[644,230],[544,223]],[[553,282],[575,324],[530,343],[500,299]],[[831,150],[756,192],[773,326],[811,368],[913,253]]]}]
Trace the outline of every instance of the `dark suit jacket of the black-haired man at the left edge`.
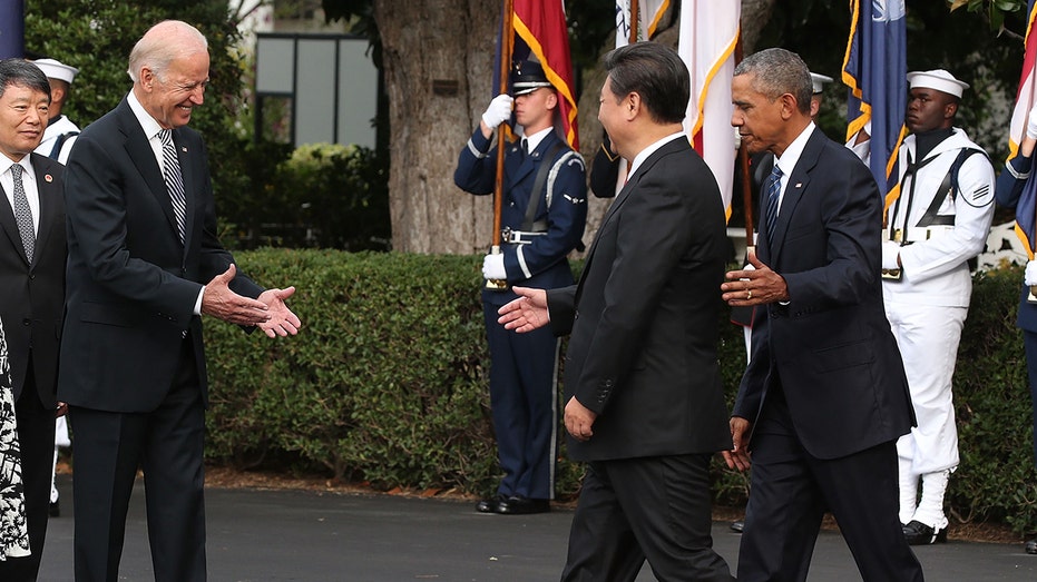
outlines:
[{"label": "dark suit jacket of the black-haired man at the left edge", "polygon": [[40,195],[40,220],[32,264],[18,233],[10,204],[0,204],[0,317],[7,334],[14,399],[21,394],[32,348],[32,372],[43,406],[56,406],[58,348],[65,313],[65,198],[63,167],[31,154]]}]

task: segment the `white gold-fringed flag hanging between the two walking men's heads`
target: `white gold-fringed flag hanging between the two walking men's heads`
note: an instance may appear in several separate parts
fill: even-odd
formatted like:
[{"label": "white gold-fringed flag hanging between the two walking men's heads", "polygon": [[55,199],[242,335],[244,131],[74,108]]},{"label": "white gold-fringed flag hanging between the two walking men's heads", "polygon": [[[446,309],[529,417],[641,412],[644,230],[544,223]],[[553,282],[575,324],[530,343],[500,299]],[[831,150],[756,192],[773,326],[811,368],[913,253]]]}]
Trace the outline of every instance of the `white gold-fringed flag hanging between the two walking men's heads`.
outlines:
[{"label": "white gold-fringed flag hanging between the two walking men's heads", "polygon": [[731,78],[738,43],[740,0],[685,0],[681,7],[677,53],[692,77],[684,129],[695,150],[713,170],[724,209],[731,218],[734,159],[737,155],[731,117]]}]

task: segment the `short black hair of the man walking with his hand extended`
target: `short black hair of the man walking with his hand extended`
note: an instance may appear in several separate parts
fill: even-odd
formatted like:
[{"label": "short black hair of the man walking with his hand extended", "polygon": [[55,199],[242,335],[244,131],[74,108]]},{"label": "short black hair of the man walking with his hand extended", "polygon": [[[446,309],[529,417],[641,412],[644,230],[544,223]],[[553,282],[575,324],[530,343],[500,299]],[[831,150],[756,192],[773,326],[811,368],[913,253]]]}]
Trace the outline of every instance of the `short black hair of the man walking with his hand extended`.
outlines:
[{"label": "short black hair of the man walking with his hand extended", "polygon": [[604,65],[614,93],[639,95],[655,121],[684,121],[692,81],[676,51],[658,42],[635,42],[609,51]]}]

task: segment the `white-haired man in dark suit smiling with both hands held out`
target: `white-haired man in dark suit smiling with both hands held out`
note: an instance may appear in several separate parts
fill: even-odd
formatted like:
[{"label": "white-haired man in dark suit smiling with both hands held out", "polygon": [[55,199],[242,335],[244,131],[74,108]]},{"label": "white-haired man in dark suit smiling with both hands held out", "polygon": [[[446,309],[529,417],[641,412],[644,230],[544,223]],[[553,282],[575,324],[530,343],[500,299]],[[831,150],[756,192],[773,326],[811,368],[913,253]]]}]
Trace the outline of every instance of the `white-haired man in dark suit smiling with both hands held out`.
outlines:
[{"label": "white-haired man in dark suit smiling with both hands held out", "polygon": [[185,127],[208,82],[205,37],[149,29],[133,90],[69,157],[59,398],[76,426],[76,579],[114,581],[137,467],[156,580],[205,580],[202,318],[295,334],[284,300],[236,275],[216,238],[205,145]]}]

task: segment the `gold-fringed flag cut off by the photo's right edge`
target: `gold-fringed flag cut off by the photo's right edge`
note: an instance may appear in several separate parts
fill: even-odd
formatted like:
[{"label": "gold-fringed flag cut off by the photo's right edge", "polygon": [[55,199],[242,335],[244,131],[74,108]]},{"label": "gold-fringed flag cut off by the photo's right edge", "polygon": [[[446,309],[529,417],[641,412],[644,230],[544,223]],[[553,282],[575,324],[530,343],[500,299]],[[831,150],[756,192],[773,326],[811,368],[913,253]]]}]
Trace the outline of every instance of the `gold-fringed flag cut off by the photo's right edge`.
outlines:
[{"label": "gold-fringed flag cut off by the photo's right edge", "polygon": [[[1037,101],[1037,78],[1035,78],[1035,67],[1037,67],[1037,31],[1034,30],[1034,22],[1037,20],[1037,6],[1034,0],[1029,0],[1026,10],[1026,37],[1025,53],[1023,57],[1023,75],[1019,77],[1019,92],[1016,96],[1016,107],[1011,111],[1011,122],[1008,130],[1008,159],[1019,154],[1019,144],[1026,132],[1026,121],[1029,117],[1030,109]],[[1028,179],[1019,195],[1019,203],[1016,205],[1016,235],[1026,246],[1026,253],[1030,260],[1034,259],[1034,245],[1037,244],[1037,180]]]}]

